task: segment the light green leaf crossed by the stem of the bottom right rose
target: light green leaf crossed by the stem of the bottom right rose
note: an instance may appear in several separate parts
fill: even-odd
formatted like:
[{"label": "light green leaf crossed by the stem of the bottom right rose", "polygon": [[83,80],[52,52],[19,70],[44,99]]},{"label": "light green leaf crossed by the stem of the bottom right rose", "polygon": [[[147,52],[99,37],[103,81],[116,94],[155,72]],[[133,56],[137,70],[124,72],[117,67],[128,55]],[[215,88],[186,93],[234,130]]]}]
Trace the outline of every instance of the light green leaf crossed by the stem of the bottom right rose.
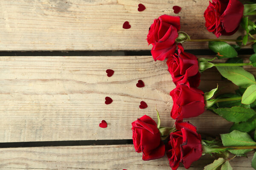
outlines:
[{"label": "light green leaf crossed by the stem of the bottom right rose", "polygon": [[[221,134],[221,140],[223,146],[255,146],[256,142],[250,137],[248,133],[233,130],[231,133]],[[229,150],[235,155],[241,155],[250,152],[253,149],[240,149],[240,150]]]}]

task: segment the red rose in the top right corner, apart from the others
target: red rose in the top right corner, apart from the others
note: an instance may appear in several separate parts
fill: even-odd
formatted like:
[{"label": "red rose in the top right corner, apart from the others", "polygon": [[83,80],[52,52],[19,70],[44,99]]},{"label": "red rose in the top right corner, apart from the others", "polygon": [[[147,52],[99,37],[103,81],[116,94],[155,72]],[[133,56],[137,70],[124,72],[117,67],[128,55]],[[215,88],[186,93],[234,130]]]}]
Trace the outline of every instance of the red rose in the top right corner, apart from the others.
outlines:
[{"label": "red rose in the top right corner, apart from the others", "polygon": [[205,26],[219,37],[232,35],[243,17],[244,5],[239,0],[212,0],[204,11]]}]

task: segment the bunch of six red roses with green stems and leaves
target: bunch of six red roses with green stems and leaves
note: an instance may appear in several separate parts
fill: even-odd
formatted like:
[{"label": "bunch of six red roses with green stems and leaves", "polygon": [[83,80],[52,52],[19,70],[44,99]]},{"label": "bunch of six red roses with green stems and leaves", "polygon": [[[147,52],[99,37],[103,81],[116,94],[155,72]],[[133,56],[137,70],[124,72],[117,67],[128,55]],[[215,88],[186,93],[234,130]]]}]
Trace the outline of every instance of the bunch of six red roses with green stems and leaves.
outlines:
[{"label": "bunch of six red roses with green stems and leaves", "polygon": [[[166,59],[176,85],[170,92],[173,99],[170,116],[176,122],[175,127],[161,127],[157,112],[157,123],[146,115],[132,123],[134,147],[136,152],[143,153],[143,160],[159,159],[166,153],[170,167],[176,170],[180,163],[189,168],[193,161],[208,153],[218,159],[205,166],[205,170],[231,170],[230,159],[256,149],[256,80],[242,67],[256,67],[256,54],[251,55],[249,62],[244,62],[237,53],[247,45],[252,45],[256,53],[256,23],[249,19],[255,14],[255,3],[243,5],[239,0],[212,0],[204,12],[205,26],[217,39],[203,40],[192,40],[180,31],[180,17],[162,15],[154,20],[147,41],[153,45],[151,54],[155,61]],[[244,29],[244,36],[236,40],[218,38],[234,34],[239,26]],[[208,42],[216,57],[197,58],[184,50],[182,43],[186,41]],[[230,41],[237,45],[228,44]],[[218,63],[218,59],[227,61]],[[238,90],[217,96],[218,85],[206,93],[198,89],[200,72],[211,67],[216,67],[223,77],[239,86]],[[184,118],[199,116],[205,109],[234,122],[230,133],[202,140],[194,125],[183,122]],[[230,153],[234,155],[231,158]],[[252,167],[256,169],[256,154]]]}]

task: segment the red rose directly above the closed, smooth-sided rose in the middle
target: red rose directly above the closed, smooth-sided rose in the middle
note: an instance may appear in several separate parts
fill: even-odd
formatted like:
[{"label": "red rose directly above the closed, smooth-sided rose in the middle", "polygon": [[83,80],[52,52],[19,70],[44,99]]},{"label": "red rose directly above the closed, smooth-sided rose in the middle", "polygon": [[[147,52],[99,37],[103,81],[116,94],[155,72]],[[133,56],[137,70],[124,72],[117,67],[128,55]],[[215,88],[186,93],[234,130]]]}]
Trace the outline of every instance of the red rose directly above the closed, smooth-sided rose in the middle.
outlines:
[{"label": "red rose directly above the closed, smooth-sided rose in the middle", "polygon": [[187,84],[195,88],[199,86],[200,73],[197,57],[184,52],[181,44],[178,44],[178,54],[174,54],[166,63],[175,85]]}]

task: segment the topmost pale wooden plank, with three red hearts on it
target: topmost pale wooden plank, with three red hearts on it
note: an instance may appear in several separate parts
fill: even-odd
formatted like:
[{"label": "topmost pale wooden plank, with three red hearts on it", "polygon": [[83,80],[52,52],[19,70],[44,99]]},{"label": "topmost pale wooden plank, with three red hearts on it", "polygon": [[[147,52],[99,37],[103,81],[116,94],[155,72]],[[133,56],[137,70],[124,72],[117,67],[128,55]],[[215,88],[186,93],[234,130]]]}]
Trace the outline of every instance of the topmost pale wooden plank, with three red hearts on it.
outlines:
[{"label": "topmost pale wooden plank, with three red hearts on it", "polygon": [[[145,11],[137,10],[139,3]],[[173,12],[176,5],[179,14]],[[208,5],[207,0],[1,0],[0,50],[150,50],[148,28],[163,14],[181,16],[181,30],[192,39],[216,38],[204,26]],[[125,21],[130,29],[122,28]],[[208,46],[188,42],[185,48]]]}]

